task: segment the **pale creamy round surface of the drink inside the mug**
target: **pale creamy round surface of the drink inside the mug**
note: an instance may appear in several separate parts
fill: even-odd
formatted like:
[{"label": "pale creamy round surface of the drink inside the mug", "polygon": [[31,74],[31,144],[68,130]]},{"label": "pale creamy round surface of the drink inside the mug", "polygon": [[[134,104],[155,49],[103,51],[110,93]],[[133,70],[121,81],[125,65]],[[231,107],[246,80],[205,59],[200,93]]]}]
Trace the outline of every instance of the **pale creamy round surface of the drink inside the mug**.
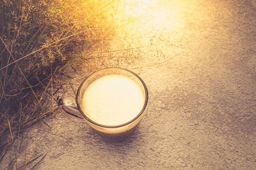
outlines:
[{"label": "pale creamy round surface of the drink inside the mug", "polygon": [[145,96],[140,87],[118,74],[103,76],[84,92],[82,108],[88,118],[102,125],[120,125],[140,113]]}]

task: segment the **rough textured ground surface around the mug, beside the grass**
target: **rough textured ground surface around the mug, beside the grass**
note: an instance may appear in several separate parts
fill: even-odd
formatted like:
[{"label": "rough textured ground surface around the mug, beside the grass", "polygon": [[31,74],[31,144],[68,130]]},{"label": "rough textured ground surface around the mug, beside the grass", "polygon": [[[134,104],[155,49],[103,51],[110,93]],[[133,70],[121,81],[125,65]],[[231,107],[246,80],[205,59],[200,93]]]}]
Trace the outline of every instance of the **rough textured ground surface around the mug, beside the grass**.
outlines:
[{"label": "rough textured ground surface around the mug, beside the grass", "polygon": [[[173,11],[165,25],[128,24],[109,48],[164,45],[101,53],[65,70],[75,90],[96,69],[138,73],[149,91],[138,130],[111,143],[58,109],[45,119],[51,128],[38,123],[24,133],[18,165],[47,153],[36,169],[256,169],[255,1],[172,1],[164,9]],[[56,96],[74,96],[63,78],[55,83],[63,84]]]}]

